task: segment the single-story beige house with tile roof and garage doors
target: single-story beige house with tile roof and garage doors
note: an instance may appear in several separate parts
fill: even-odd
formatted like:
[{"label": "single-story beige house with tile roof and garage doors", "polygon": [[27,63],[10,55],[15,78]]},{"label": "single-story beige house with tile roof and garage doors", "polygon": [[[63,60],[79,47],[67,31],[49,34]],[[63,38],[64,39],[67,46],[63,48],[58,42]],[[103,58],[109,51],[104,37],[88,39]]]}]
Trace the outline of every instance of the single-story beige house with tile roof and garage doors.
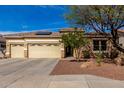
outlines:
[{"label": "single-story beige house with tile roof and garage doors", "polygon": [[[6,56],[10,58],[64,58],[74,56],[73,50],[60,42],[63,33],[73,31],[75,31],[74,28],[64,28],[60,29],[59,32],[35,31],[5,35]],[[78,28],[77,31],[83,30]],[[85,33],[85,37],[91,40],[90,46],[94,52],[99,50],[108,52],[110,50],[111,43],[108,42],[110,36]],[[123,40],[120,42],[124,44]]]}]

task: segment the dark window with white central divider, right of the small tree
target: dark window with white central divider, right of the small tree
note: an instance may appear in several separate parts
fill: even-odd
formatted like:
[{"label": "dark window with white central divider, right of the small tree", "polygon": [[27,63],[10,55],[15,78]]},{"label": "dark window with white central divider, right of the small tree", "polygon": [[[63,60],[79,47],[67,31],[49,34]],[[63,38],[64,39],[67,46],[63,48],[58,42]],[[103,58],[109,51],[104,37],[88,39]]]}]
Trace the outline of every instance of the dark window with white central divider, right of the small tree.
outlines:
[{"label": "dark window with white central divider, right of the small tree", "polygon": [[93,50],[94,51],[105,51],[106,50],[106,40],[93,40]]}]

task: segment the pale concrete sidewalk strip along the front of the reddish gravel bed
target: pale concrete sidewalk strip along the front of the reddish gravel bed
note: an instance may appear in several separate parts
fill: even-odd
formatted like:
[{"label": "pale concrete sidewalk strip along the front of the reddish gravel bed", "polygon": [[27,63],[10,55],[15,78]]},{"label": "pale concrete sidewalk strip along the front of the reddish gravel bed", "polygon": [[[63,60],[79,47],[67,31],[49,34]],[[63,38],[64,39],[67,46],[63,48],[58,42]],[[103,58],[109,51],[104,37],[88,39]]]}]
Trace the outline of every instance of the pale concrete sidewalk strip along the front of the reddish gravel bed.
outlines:
[{"label": "pale concrete sidewalk strip along the front of the reddish gravel bed", "polygon": [[51,88],[124,88],[124,81],[112,80],[92,75],[51,76]]}]

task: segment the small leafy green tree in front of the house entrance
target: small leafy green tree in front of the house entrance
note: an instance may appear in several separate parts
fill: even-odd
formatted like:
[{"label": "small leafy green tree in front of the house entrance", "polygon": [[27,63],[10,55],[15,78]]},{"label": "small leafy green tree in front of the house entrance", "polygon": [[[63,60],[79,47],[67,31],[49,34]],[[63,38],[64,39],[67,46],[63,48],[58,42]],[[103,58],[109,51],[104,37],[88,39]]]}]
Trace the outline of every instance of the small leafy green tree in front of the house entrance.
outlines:
[{"label": "small leafy green tree in front of the house entrance", "polygon": [[62,35],[62,43],[65,47],[70,46],[74,49],[75,58],[77,62],[81,58],[82,48],[88,45],[88,39],[84,38],[84,32],[75,30],[74,32],[69,32]]}]

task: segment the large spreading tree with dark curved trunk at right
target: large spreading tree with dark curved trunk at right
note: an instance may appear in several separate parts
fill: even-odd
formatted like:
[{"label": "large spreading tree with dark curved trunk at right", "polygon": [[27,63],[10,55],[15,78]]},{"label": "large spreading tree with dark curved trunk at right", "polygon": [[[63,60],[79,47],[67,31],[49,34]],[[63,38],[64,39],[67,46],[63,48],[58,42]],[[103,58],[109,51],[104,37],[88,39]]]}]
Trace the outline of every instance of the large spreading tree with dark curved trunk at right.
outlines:
[{"label": "large spreading tree with dark curved trunk at right", "polygon": [[71,24],[91,28],[105,36],[110,33],[113,46],[124,53],[120,46],[118,30],[124,28],[124,6],[122,5],[101,5],[101,6],[70,6],[70,12],[66,19]]}]

